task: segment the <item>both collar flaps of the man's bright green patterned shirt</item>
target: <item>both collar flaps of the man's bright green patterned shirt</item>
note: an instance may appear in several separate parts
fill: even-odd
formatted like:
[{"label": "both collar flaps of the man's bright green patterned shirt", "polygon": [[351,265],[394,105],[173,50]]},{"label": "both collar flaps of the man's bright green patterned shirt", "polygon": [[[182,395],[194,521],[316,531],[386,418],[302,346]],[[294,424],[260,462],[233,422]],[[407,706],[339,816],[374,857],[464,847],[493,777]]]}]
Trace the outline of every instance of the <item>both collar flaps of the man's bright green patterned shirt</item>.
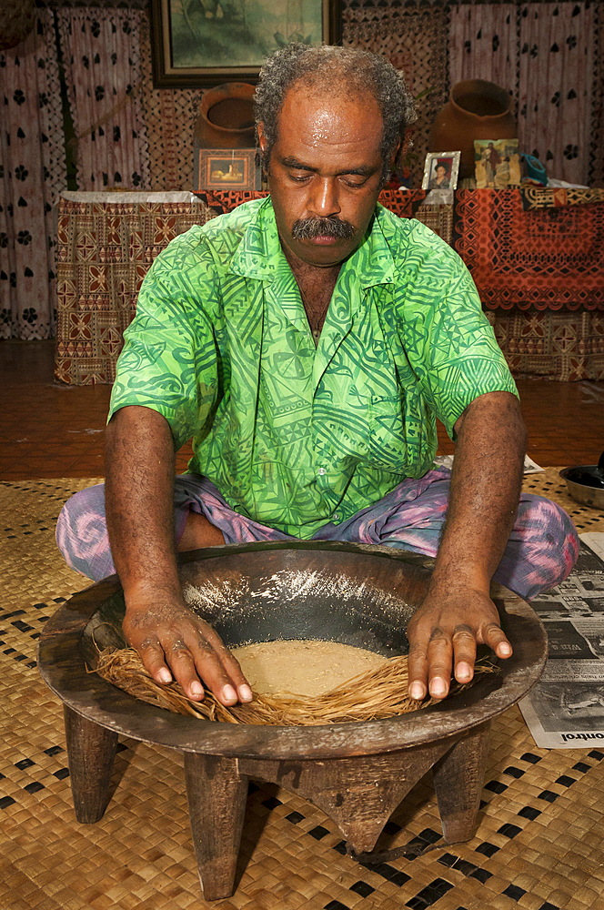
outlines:
[{"label": "both collar flaps of the man's bright green patterned shirt", "polygon": [[[377,204],[366,238],[344,266],[346,270],[354,270],[362,288],[394,281],[394,259],[381,227],[384,211]],[[279,241],[275,212],[267,197],[247,226],[231,269],[245,278],[272,281],[282,268],[289,266]]]}]

